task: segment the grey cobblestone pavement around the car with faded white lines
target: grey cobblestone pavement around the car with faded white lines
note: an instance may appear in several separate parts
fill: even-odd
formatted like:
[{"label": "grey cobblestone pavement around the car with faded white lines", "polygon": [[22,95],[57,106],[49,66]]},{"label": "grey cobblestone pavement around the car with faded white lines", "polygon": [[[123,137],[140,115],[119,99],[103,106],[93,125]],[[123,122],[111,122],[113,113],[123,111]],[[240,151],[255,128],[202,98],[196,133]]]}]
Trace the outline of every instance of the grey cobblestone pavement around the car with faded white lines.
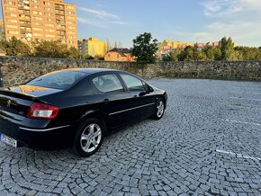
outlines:
[{"label": "grey cobblestone pavement around the car with faded white lines", "polygon": [[261,83],[158,79],[169,102],[89,158],[0,144],[0,195],[260,195]]}]

